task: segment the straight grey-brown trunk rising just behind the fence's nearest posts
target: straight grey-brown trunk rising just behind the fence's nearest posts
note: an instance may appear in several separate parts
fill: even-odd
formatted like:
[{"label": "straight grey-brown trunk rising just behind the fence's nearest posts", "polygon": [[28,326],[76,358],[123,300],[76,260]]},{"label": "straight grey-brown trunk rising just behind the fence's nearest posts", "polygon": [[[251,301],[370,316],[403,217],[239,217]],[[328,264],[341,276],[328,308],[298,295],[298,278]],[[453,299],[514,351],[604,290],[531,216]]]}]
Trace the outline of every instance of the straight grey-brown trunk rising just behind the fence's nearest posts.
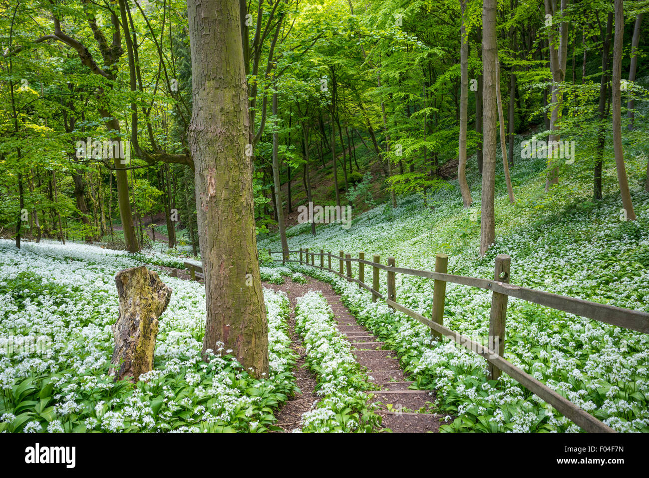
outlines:
[{"label": "straight grey-brown trunk rising just behind the fence's nearest posts", "polygon": [[496,181],[496,0],[482,6],[482,70],[484,160],[482,164],[482,212],[480,254],[495,242],[494,190]]}]

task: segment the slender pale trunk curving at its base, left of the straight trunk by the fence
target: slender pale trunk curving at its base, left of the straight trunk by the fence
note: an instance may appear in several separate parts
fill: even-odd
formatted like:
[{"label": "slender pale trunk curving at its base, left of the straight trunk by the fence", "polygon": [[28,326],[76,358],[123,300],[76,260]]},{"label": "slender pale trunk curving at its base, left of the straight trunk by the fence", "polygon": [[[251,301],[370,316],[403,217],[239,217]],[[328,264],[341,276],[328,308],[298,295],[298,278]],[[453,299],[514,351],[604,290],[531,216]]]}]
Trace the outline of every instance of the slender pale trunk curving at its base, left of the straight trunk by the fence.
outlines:
[{"label": "slender pale trunk curving at its base, left of the straight trunk by the fence", "polygon": [[469,105],[469,39],[465,27],[466,0],[460,0],[459,6],[462,10],[462,23],[460,27],[460,94],[459,94],[459,160],[458,160],[458,182],[459,191],[462,195],[464,207],[471,206],[471,190],[467,182],[467,112]]}]

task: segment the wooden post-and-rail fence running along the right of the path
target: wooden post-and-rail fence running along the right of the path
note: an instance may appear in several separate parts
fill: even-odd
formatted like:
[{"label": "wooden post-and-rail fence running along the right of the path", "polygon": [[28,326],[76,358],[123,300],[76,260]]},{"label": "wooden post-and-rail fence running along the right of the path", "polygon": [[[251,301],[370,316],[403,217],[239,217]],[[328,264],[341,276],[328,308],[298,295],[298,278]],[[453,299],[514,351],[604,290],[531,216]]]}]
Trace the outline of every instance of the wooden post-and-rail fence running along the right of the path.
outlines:
[{"label": "wooden post-and-rail fence running along the right of the path", "polygon": [[[271,251],[268,253],[283,254],[282,251]],[[299,253],[300,259],[290,259],[290,254]],[[316,256],[319,258],[319,265],[315,264]],[[324,265],[324,258],[326,259],[326,266]],[[332,268],[332,259],[338,260],[338,270]],[[489,378],[498,379],[500,372],[507,373],[510,377],[518,381],[522,386],[530,390],[533,394],[541,397],[547,403],[550,403],[555,409],[559,410],[563,416],[574,421],[577,425],[582,427],[587,432],[596,433],[615,433],[602,421],[597,420],[594,416],[574,405],[567,398],[557,394],[554,390],[539,382],[537,379],[528,373],[520,370],[517,366],[505,360],[504,347],[505,347],[505,329],[506,329],[506,316],[507,316],[507,301],[508,297],[517,297],[528,302],[533,302],[545,307],[554,308],[556,310],[563,310],[578,316],[598,320],[618,327],[624,327],[642,333],[649,333],[649,314],[640,312],[638,310],[629,310],[626,308],[614,307],[612,305],[599,304],[596,302],[589,302],[574,297],[559,296],[557,294],[550,294],[541,290],[534,290],[526,287],[520,287],[509,284],[509,265],[511,259],[506,254],[500,254],[496,257],[494,268],[494,279],[480,279],[478,277],[465,277],[463,275],[449,274],[448,256],[439,253],[435,257],[435,271],[423,271],[417,269],[398,268],[395,265],[395,258],[388,257],[387,265],[381,264],[380,256],[374,255],[373,260],[365,260],[365,253],[358,253],[358,258],[351,257],[350,254],[345,254],[339,251],[339,255],[326,253],[323,249],[320,252],[310,252],[309,249],[301,249],[299,251],[288,251],[288,254],[282,255],[281,259],[275,262],[299,262],[321,270],[332,272],[340,277],[344,277],[348,281],[357,283],[361,288],[365,288],[372,293],[372,300],[376,302],[378,299],[386,301],[389,307],[393,310],[398,310],[407,314],[408,316],[420,321],[424,325],[428,325],[432,329],[432,334],[441,338],[441,336],[448,336],[454,339],[461,346],[466,347],[470,351],[478,353],[489,362]],[[352,277],[352,262],[358,262],[358,279]],[[372,286],[365,283],[365,266],[372,268]],[[382,296],[378,292],[380,288],[379,271],[387,271],[387,296]],[[434,279],[433,290],[433,308],[432,320],[428,319],[421,314],[417,314],[404,305],[397,302],[397,293],[395,288],[395,274],[401,273],[406,275],[416,275],[419,277],[427,277]],[[463,336],[456,331],[448,329],[444,326],[444,303],[446,296],[446,284],[463,284],[465,286],[478,287],[493,292],[491,297],[491,316],[489,317],[489,337],[490,344],[495,344],[494,349],[478,344],[467,336]],[[496,340],[491,340],[496,338]],[[496,350],[497,349],[497,350]]]}]

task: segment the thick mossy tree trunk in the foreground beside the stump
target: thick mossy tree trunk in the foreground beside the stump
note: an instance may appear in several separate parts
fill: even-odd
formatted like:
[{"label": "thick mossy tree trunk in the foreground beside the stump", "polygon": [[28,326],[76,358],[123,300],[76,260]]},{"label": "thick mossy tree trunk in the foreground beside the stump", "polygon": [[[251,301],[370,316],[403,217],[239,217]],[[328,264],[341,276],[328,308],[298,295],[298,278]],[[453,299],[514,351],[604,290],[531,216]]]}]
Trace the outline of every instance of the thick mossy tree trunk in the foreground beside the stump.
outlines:
[{"label": "thick mossy tree trunk in the foreground beside the stump", "polygon": [[197,217],[207,317],[203,354],[232,349],[268,373],[268,331],[254,228],[248,90],[238,0],[188,0]]}]

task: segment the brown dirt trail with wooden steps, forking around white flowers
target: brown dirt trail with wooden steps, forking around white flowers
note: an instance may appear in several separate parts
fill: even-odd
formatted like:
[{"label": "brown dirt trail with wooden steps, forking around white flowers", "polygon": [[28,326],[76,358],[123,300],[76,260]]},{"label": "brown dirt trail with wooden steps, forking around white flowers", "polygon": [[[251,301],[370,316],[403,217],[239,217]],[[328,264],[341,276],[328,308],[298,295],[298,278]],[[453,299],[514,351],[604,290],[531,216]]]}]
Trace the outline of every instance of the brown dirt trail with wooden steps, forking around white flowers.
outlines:
[{"label": "brown dirt trail with wooden steps, forking around white flowers", "polygon": [[295,375],[302,394],[289,399],[288,403],[280,410],[278,414],[280,427],[285,431],[291,431],[298,427],[302,413],[310,410],[311,405],[318,400],[313,392],[316,384],[315,377],[308,369],[302,367],[304,365],[304,347],[295,333],[293,314],[297,298],[312,289],[322,291],[334,311],[338,330],[352,343],[355,349],[354,355],[361,366],[367,368],[369,380],[381,386],[380,390],[368,393],[371,393],[371,401],[380,404],[378,413],[383,417],[383,426],[395,433],[439,431],[441,416],[417,413],[419,410],[428,409],[430,403],[434,402],[434,393],[427,390],[408,389],[412,382],[406,379],[404,371],[399,365],[397,353],[393,350],[382,349],[383,342],[377,342],[376,336],[356,321],[330,284],[308,277],[306,284],[287,280],[282,285],[269,283],[263,283],[263,285],[273,290],[283,290],[288,295],[291,302],[289,329],[293,342],[292,347],[299,354]]}]

